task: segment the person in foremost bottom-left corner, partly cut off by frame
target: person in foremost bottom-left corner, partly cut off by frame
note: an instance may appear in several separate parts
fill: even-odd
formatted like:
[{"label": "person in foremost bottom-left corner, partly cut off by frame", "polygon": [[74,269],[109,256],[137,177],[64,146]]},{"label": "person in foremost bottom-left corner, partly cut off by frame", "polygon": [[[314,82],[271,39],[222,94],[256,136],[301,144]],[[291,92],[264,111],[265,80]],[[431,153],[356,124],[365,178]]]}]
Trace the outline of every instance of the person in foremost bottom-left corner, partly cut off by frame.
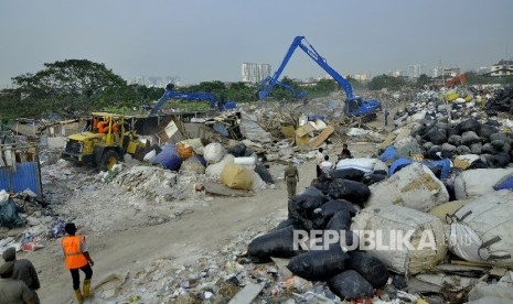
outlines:
[{"label": "person in foremost bottom-left corner, partly cut off by frame", "polygon": [[14,262],[6,262],[0,267],[0,303],[35,304],[34,293],[25,282],[12,278]]}]

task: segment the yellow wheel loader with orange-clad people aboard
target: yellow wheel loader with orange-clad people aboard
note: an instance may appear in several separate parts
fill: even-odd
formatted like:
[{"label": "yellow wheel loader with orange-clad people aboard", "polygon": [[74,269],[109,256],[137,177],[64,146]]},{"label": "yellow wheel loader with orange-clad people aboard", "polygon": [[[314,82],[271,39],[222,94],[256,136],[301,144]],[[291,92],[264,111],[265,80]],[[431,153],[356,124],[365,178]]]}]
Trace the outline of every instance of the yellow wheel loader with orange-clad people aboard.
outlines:
[{"label": "yellow wheel loader with orange-clad people aboard", "polygon": [[76,164],[94,164],[111,170],[125,153],[141,159],[146,145],[132,129],[135,117],[93,112],[83,131],[67,138],[62,158]]}]

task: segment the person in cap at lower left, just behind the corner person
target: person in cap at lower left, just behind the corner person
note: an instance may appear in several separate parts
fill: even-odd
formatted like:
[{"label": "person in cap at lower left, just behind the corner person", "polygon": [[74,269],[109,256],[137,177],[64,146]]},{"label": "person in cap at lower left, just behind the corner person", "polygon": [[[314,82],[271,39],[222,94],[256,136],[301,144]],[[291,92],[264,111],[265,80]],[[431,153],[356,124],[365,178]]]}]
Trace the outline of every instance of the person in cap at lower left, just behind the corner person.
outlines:
[{"label": "person in cap at lower left, just behind the corner person", "polygon": [[36,290],[41,287],[40,280],[32,262],[26,259],[17,260],[17,250],[14,247],[8,248],[3,251],[2,258],[6,262],[12,262],[14,265],[11,278],[23,281],[34,293],[34,303],[41,303],[36,293]]}]

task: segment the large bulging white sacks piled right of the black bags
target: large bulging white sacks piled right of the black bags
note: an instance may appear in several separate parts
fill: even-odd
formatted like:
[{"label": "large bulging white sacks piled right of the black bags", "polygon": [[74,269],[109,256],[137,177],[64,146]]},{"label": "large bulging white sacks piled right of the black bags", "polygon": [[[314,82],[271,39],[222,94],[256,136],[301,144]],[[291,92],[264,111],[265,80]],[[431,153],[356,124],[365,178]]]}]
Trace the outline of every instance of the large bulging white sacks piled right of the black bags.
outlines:
[{"label": "large bulging white sacks piled right of the black bags", "polygon": [[[342,166],[367,166],[372,172],[383,163],[353,159],[338,169]],[[448,251],[470,262],[513,267],[513,195],[511,189],[494,189],[511,174],[513,167],[464,171],[453,180],[457,200],[449,202],[446,184],[414,162],[370,186],[371,197],[351,230],[373,231],[382,247],[368,247],[366,252],[396,273],[429,272]]]}]

